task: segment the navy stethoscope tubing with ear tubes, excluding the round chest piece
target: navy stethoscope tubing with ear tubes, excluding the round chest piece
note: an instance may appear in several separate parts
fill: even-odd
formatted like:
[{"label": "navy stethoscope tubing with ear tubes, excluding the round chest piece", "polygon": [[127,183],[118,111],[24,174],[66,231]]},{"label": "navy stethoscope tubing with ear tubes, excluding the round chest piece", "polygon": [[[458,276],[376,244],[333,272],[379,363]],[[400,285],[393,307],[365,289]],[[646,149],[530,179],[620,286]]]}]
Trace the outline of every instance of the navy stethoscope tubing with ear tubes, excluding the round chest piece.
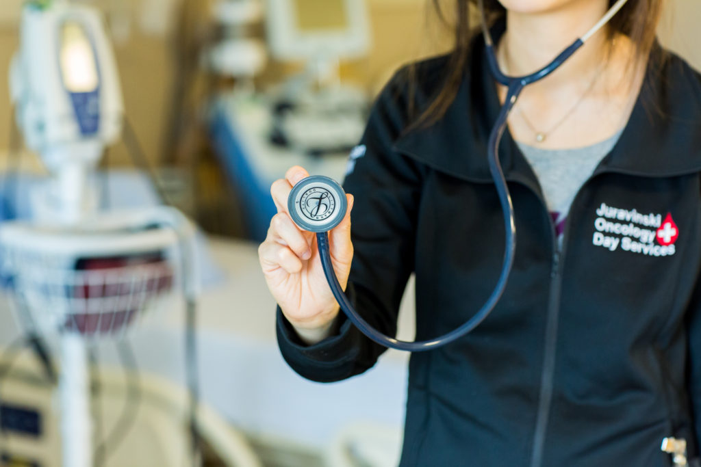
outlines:
[{"label": "navy stethoscope tubing with ear tubes, excluding the round chest piece", "polygon": [[491,295],[489,295],[489,298],[487,298],[486,302],[484,302],[484,305],[482,305],[482,307],[462,326],[431,340],[417,342],[398,340],[395,337],[385,335],[379,330],[376,330],[370,326],[370,324],[367,323],[367,321],[365,321],[365,319],[363,319],[362,316],[355,311],[353,304],[350,300],[348,300],[348,297],[343,292],[341,284],[339,284],[339,281],[336,278],[336,272],[334,272],[334,266],[331,258],[328,232],[318,232],[316,237],[318,249],[320,252],[322,268],[329,283],[329,287],[331,288],[334,298],[336,298],[336,301],[339,302],[339,306],[341,307],[343,313],[348,316],[348,320],[350,320],[361,333],[365,334],[367,337],[369,337],[369,339],[373,340],[377,344],[384,347],[389,347],[390,349],[410,352],[428,351],[438,347],[443,347],[444,345],[450,344],[451,342],[454,342],[455,340],[467,335],[472,330],[477,328],[477,326],[479,326],[479,324],[481,324],[482,321],[484,321],[484,319],[486,319],[486,317],[489,316],[492,311],[494,311],[494,307],[496,307],[497,302],[501,299],[501,296],[506,288],[516,253],[516,223],[514,207],[508,183],[505,179],[501,162],[498,158],[499,142],[501,141],[508,125],[509,113],[516,104],[517,99],[524,87],[532,83],[536,83],[536,81],[542,80],[545,78],[545,76],[548,76],[553,71],[558,69],[564,62],[566,62],[566,60],[569,59],[569,57],[573,55],[573,53],[584,45],[586,39],[589,39],[589,37],[597,32],[603,25],[605,25],[608,20],[611,20],[613,15],[615,15],[615,13],[622,8],[626,1],[627,0],[618,0],[608,10],[604,18],[597,22],[597,25],[594,25],[594,27],[590,29],[585,36],[583,36],[583,39],[577,39],[571,44],[571,46],[565,48],[562,53],[557,55],[552,62],[545,65],[545,67],[525,76],[508,76],[499,68],[494,50],[494,43],[491,39],[491,35],[489,34],[489,30],[486,28],[482,1],[479,1],[479,6],[482,11],[482,27],[484,29],[486,57],[489,64],[489,69],[496,81],[507,87],[505,102],[501,107],[501,111],[499,111],[494,127],[492,127],[489,134],[489,143],[487,146],[487,162],[489,163],[489,172],[494,179],[494,185],[498,193],[499,203],[501,204],[504,218],[505,251],[501,274],[499,274],[499,279],[494,287],[494,291],[492,291]]}]

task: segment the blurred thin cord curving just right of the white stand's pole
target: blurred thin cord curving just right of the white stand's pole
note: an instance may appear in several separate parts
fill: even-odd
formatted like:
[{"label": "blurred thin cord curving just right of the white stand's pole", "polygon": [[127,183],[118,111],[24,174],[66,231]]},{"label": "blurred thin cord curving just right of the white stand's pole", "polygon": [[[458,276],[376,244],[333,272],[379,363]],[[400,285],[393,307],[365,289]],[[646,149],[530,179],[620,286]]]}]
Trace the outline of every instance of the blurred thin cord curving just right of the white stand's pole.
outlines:
[{"label": "blurred thin cord curving just right of the white stand's pole", "polygon": [[[116,344],[124,370],[127,394],[121,415],[117,419],[109,434],[95,448],[95,467],[104,466],[111,454],[125,440],[126,435],[133,428],[136,422],[136,415],[142,402],[141,378],[137,366],[136,356],[128,340],[122,340]],[[99,400],[98,400],[99,405]],[[109,447],[109,449],[108,449]]]}]

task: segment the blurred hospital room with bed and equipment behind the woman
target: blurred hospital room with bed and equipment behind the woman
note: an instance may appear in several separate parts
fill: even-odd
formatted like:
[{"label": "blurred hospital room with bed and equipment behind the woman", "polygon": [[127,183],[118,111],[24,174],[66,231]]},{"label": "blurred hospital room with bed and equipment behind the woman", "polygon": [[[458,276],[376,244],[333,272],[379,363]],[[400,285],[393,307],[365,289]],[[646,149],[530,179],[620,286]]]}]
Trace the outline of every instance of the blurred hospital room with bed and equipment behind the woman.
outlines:
[{"label": "blurred hospital room with bed and equipment behind the woman", "polygon": [[[701,4],[665,8],[701,67]],[[3,0],[0,465],[396,465],[407,356],[298,377],[257,245],[270,183],[343,179],[377,92],[450,47],[428,0]]]}]

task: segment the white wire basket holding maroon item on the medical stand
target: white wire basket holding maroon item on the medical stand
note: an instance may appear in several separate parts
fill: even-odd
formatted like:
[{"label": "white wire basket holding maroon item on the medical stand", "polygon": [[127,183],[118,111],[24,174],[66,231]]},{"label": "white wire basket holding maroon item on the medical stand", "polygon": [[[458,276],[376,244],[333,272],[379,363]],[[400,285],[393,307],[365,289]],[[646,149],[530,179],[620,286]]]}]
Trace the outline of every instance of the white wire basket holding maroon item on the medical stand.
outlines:
[{"label": "white wire basket holding maroon item on the medical stand", "polygon": [[172,232],[154,228],[0,230],[2,272],[18,321],[34,332],[86,338],[121,336],[170,301],[176,243]]}]

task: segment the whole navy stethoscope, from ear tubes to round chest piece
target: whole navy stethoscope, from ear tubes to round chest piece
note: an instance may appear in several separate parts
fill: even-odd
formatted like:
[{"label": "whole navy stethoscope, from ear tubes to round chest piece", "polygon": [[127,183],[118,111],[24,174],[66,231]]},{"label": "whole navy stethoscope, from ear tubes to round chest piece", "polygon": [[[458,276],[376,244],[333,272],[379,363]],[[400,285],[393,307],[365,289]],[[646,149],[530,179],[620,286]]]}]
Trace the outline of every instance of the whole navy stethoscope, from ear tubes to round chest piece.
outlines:
[{"label": "whole navy stethoscope, from ear tubes to round chest piece", "polygon": [[491,295],[489,295],[489,298],[486,300],[482,308],[480,308],[479,311],[472,316],[472,318],[470,318],[459,328],[456,328],[450,333],[440,337],[436,337],[433,340],[407,342],[384,335],[383,333],[379,332],[379,330],[376,330],[370,326],[367,321],[362,319],[362,316],[360,316],[358,312],[353,309],[353,305],[351,304],[350,300],[348,300],[346,294],[343,293],[343,288],[341,288],[341,284],[339,284],[338,279],[336,279],[336,273],[334,272],[331,253],[329,251],[329,235],[327,232],[339,225],[339,223],[341,223],[343,220],[343,217],[346,216],[346,209],[348,208],[346,193],[343,192],[343,188],[341,188],[339,183],[333,179],[318,175],[309,176],[306,179],[299,181],[294,188],[292,188],[290,197],[287,200],[287,208],[290,216],[292,217],[294,223],[299,226],[299,228],[309,232],[316,232],[322,267],[326,279],[329,282],[329,286],[331,287],[331,291],[334,294],[334,298],[336,298],[336,301],[339,302],[341,310],[346,314],[346,316],[348,316],[348,319],[351,320],[351,322],[360,330],[360,332],[365,334],[374,342],[377,342],[385,347],[390,347],[391,349],[411,352],[426,351],[436,349],[437,347],[442,347],[450,342],[453,342],[454,340],[459,339],[460,337],[463,337],[479,326],[479,323],[482,323],[482,321],[489,316],[504,292],[506,282],[514,262],[514,253],[516,251],[514,207],[501,164],[499,163],[497,157],[499,152],[499,141],[501,140],[504,130],[506,129],[509,113],[514,104],[516,104],[516,100],[524,87],[529,84],[536,83],[536,81],[540,81],[541,79],[545,78],[545,76],[558,69],[569,57],[571,57],[573,53],[576,52],[576,50],[583,46],[588,39],[599,31],[601,27],[606,25],[606,23],[613,18],[613,15],[618,13],[626,1],[627,0],[616,1],[608,12],[606,12],[604,18],[601,18],[601,20],[597,22],[592,29],[584,34],[580,39],[574,41],[571,46],[563,50],[560,55],[555,57],[555,59],[550,62],[550,64],[547,64],[545,67],[533,74],[514,77],[503,74],[501,69],[499,69],[499,64],[496,60],[496,53],[494,52],[494,41],[492,40],[489,29],[486,25],[483,0],[479,0],[479,10],[482,16],[482,32],[486,43],[486,56],[487,61],[489,62],[489,68],[491,69],[491,74],[494,75],[496,81],[508,88],[505,103],[502,106],[496,123],[491,130],[491,134],[489,134],[489,145],[487,149],[489,170],[491,172],[491,176],[494,178],[494,183],[496,183],[499,202],[504,213],[506,250],[504,253],[501,274],[494,291],[491,293]]}]

